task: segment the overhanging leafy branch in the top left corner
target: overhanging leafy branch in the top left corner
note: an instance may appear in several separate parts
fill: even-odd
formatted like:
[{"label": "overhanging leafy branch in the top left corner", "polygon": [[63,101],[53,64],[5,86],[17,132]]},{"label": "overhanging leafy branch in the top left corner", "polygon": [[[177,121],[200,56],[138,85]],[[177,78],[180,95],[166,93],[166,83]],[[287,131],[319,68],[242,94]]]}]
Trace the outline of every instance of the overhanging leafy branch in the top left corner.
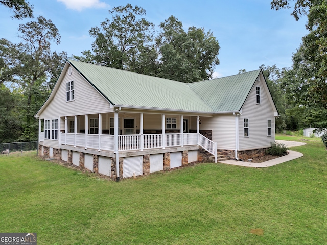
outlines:
[{"label": "overhanging leafy branch in the top left corner", "polygon": [[13,9],[14,18],[33,18],[33,5],[25,0],[0,0],[0,4]]}]

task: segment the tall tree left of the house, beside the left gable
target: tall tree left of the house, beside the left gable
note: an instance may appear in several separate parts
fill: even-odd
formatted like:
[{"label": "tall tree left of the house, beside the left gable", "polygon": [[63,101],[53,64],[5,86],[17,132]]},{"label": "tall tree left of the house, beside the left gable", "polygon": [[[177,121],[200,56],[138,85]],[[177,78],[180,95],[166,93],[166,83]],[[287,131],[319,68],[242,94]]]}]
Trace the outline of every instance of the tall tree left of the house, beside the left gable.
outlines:
[{"label": "tall tree left of the house, beside the left gable", "polygon": [[60,42],[58,29],[51,20],[40,16],[37,21],[20,24],[18,30],[23,42],[12,44],[5,39],[0,42],[0,60],[5,64],[0,81],[19,89],[24,95],[18,105],[23,124],[20,140],[36,140],[38,122],[34,115],[49,96],[66,53],[51,50],[52,41]]}]

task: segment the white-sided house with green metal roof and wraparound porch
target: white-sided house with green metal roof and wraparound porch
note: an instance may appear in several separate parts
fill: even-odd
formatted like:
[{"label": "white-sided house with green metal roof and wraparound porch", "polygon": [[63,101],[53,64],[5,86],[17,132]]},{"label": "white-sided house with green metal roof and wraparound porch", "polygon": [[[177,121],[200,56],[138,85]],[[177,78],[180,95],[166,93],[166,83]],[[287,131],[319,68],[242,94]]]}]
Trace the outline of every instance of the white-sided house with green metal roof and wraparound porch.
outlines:
[{"label": "white-sided house with green metal roof and wraparound porch", "polygon": [[73,60],[35,115],[41,155],[118,180],[263,154],[277,116],[261,70],[186,84]]}]

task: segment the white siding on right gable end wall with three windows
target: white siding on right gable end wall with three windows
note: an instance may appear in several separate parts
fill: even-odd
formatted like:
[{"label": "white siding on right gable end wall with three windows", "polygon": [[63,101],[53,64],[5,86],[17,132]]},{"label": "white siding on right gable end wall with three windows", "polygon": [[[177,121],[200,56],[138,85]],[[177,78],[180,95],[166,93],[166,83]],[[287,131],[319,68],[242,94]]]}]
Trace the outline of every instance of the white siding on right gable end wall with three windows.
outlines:
[{"label": "white siding on right gable end wall with three windows", "polygon": [[[242,107],[239,118],[239,150],[266,148],[275,140],[274,111],[264,84],[256,82]],[[256,104],[256,87],[261,89],[261,104]],[[249,137],[244,137],[244,118],[249,119]],[[271,136],[267,136],[267,120],[271,120]]]}]

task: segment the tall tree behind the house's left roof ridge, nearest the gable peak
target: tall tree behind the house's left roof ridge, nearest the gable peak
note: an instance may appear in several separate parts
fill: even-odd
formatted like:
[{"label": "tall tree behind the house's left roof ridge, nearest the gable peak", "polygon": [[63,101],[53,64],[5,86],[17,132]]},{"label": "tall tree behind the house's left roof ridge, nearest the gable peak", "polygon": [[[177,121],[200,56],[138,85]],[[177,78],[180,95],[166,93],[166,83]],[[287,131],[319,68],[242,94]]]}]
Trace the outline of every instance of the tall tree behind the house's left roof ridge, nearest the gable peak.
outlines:
[{"label": "tall tree behind the house's left roof ridge, nearest the gable peak", "polygon": [[154,26],[142,16],[146,11],[130,4],[114,7],[109,10],[111,19],[101,23],[101,28],[94,27],[89,31],[96,40],[92,51],[84,51],[79,60],[91,61],[109,67],[135,71],[138,67],[154,62],[144,59],[152,56]]}]

